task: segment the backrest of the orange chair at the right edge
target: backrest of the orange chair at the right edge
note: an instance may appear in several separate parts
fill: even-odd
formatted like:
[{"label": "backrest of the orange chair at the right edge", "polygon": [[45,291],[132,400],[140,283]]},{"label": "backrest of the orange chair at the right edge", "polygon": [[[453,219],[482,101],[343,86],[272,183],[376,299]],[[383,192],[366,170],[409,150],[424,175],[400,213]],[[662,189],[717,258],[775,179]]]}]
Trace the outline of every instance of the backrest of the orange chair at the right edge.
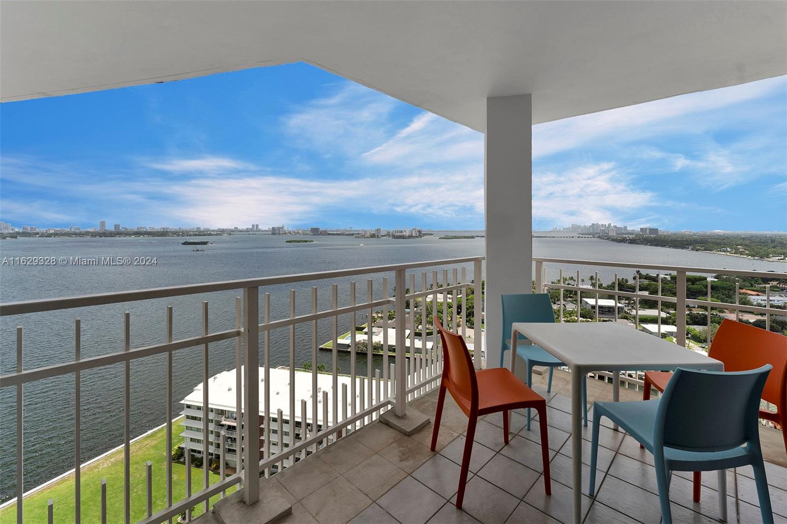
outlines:
[{"label": "backrest of the orange chair at the right edge", "polygon": [[744,371],[769,363],[763,399],[787,408],[787,337],[759,327],[724,319],[708,349],[708,356],[721,360],[724,371]]}]

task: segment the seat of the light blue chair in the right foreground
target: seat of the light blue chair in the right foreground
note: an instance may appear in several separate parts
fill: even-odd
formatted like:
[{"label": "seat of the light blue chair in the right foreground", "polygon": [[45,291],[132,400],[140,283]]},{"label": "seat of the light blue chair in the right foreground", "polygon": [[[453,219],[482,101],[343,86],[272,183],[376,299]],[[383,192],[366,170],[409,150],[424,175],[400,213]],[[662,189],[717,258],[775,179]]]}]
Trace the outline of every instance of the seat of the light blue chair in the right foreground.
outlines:
[{"label": "seat of the light blue chair in the right foreground", "polygon": [[[618,424],[627,434],[637,439],[649,452],[653,452],[653,433],[656,426],[656,411],[660,400],[636,400],[634,402],[596,402],[593,410],[597,416],[604,415]],[[747,447],[730,448],[714,452],[693,452],[678,448],[664,448],[664,459],[672,470],[702,470],[704,464],[709,469],[718,470],[719,460],[729,460],[730,466],[748,463],[750,452]],[[685,469],[684,469],[685,468]]]}]

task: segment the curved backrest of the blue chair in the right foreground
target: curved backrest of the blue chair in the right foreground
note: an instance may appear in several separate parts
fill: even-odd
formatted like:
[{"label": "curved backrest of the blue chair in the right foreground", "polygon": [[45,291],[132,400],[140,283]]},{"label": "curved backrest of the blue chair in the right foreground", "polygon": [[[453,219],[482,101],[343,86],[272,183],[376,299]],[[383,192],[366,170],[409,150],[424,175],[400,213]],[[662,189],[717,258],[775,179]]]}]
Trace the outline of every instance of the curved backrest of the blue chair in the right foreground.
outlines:
[{"label": "curved backrest of the blue chair in the right foreground", "polygon": [[719,451],[759,445],[759,398],[772,366],[750,371],[678,368],[656,414],[656,448]]}]

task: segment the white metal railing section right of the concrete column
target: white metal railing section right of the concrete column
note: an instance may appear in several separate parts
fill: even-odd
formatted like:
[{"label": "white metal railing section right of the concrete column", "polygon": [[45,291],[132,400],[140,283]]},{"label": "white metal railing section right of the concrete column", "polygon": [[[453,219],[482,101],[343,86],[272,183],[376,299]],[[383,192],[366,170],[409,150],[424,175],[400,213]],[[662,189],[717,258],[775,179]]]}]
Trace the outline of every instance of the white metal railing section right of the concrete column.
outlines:
[{"label": "white metal railing section right of the concrete column", "polygon": [[[712,340],[712,332],[711,332],[711,309],[726,309],[735,312],[736,319],[738,319],[741,311],[758,313],[764,316],[766,329],[770,329],[770,316],[771,315],[781,315],[787,316],[787,311],[784,309],[779,308],[772,308],[770,306],[770,286],[766,286],[766,305],[765,307],[756,306],[756,305],[748,305],[748,304],[741,304],[740,303],[740,284],[736,282],[735,288],[735,302],[734,303],[727,303],[727,302],[714,302],[711,301],[711,293],[712,293],[712,280],[708,279],[708,300],[700,300],[696,298],[688,298],[686,297],[686,275],[730,275],[730,276],[737,276],[737,277],[754,277],[759,279],[767,279],[767,280],[778,280],[778,279],[787,279],[787,273],[780,273],[774,271],[743,271],[737,269],[718,269],[718,268],[694,268],[694,267],[685,267],[685,266],[669,266],[663,264],[641,264],[641,263],[634,263],[634,262],[613,262],[613,261],[598,261],[598,260],[571,260],[571,259],[557,259],[557,258],[534,258],[535,262],[535,289],[537,292],[545,293],[548,290],[559,290],[560,293],[557,299],[557,307],[559,309],[558,315],[560,322],[563,322],[563,312],[565,310],[565,305],[567,304],[563,293],[565,291],[569,291],[574,295],[574,300],[576,301],[575,311],[576,311],[576,321],[581,322],[582,316],[582,295],[586,295],[587,297],[594,297],[596,299],[595,308],[594,309],[594,318],[592,319],[595,322],[600,320],[599,316],[599,301],[598,298],[601,296],[605,297],[612,297],[613,301],[615,302],[613,308],[613,316],[611,320],[617,321],[619,319],[619,311],[618,311],[618,304],[619,304],[619,297],[624,297],[633,301],[634,304],[634,328],[639,329],[640,322],[639,322],[639,304],[641,300],[647,301],[655,301],[656,302],[656,324],[657,324],[657,334],[661,336],[662,334],[662,305],[664,303],[667,304],[674,304],[674,310],[676,314],[676,342],[678,345],[686,346],[686,313],[688,312],[688,306],[693,305],[696,307],[706,308],[707,312],[707,326],[706,326],[706,337],[707,337],[707,344],[710,345]],[[661,275],[658,274],[656,277],[658,278],[657,286],[658,291],[656,295],[650,293],[642,293],[640,290],[640,278],[639,274],[634,274],[634,291],[624,291],[619,290],[619,279],[618,273],[615,272],[614,274],[614,289],[606,290],[604,288],[600,288],[600,280],[598,278],[598,271],[595,271],[594,279],[593,279],[593,286],[582,286],[581,285],[581,275],[580,271],[577,270],[575,275],[571,275],[571,277],[575,277],[574,284],[567,284],[567,275],[563,275],[563,268],[560,268],[558,273],[558,278],[556,282],[549,282],[547,279],[547,271],[545,264],[556,264],[558,266],[590,266],[596,268],[630,268],[632,270],[635,269],[649,269],[649,270],[656,270],[656,271],[663,271],[668,273],[669,275]],[[662,293],[662,277],[669,276],[672,278],[674,276],[675,279],[675,297],[665,296]],[[608,372],[599,372],[595,375],[604,377],[606,379],[612,378],[615,379],[615,374],[608,373]],[[624,386],[629,387],[633,386],[634,389],[641,389],[643,386],[642,374],[641,373],[624,373],[623,376],[620,377],[620,381],[623,382]]]}]

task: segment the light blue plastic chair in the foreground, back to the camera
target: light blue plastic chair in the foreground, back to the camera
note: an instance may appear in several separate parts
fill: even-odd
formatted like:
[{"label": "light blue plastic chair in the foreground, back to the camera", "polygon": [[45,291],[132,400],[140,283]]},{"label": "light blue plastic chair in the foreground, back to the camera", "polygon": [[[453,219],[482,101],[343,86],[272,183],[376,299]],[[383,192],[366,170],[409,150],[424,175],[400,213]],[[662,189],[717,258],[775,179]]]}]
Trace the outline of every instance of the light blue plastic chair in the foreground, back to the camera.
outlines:
[{"label": "light blue plastic chair in the foreground, back to the camera", "polygon": [[725,373],[678,369],[660,399],[593,404],[590,496],[596,488],[602,416],[653,454],[661,516],[671,524],[670,471],[712,471],[751,465],[763,522],[772,524],[768,482],[759,447],[759,398],[772,366]]}]

